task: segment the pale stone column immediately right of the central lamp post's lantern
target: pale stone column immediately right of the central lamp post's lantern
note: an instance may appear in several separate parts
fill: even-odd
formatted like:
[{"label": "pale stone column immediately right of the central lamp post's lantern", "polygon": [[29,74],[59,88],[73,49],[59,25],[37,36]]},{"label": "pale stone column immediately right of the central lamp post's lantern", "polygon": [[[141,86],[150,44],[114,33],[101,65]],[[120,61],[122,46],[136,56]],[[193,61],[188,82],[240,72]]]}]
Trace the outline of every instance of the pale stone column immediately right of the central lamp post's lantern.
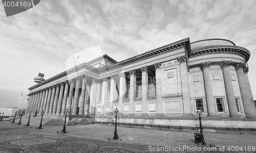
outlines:
[{"label": "pale stone column immediately right of the central lamp post's lantern", "polygon": [[123,114],[123,98],[125,94],[125,87],[126,87],[126,79],[125,79],[125,73],[121,72],[119,74],[120,77],[120,84],[119,84],[119,115]]}]

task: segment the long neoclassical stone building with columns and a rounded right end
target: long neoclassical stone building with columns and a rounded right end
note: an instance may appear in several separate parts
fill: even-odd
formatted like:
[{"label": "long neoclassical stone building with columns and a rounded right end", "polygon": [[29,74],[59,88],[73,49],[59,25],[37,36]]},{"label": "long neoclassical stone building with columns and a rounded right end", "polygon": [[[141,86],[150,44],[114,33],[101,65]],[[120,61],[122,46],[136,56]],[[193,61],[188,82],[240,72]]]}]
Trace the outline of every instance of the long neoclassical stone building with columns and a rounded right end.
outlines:
[{"label": "long neoclassical stone building with columns and a rounded right end", "polygon": [[[250,52],[225,39],[189,38],[117,62],[103,55],[29,88],[27,112],[174,126],[255,127]],[[243,120],[232,118],[244,118]]]}]

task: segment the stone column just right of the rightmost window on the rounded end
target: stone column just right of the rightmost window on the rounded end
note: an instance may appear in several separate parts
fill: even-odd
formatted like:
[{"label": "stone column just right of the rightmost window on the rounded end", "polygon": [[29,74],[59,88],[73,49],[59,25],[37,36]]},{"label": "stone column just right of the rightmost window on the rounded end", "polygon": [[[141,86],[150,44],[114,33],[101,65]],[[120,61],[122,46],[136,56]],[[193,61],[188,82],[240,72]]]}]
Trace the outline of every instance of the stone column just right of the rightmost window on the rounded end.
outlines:
[{"label": "stone column just right of the rightmost window on the rounded end", "polygon": [[237,75],[238,75],[238,84],[241,92],[241,97],[244,105],[245,116],[251,117],[254,115],[252,110],[252,105],[249,97],[249,93],[247,90],[247,84],[245,81],[243,68],[245,67],[244,63],[239,63],[236,65]]}]

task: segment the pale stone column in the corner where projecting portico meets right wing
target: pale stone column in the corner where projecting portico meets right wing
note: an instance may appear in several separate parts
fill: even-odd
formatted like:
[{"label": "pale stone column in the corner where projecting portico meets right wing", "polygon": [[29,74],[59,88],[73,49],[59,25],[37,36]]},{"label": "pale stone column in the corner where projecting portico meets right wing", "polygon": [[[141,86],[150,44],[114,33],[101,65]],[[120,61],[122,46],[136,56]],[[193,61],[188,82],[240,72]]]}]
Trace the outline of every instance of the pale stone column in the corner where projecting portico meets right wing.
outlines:
[{"label": "pale stone column in the corner where projecting portico meets right wing", "polygon": [[93,78],[91,92],[90,92],[90,104],[89,104],[90,115],[95,115],[97,83],[98,83],[98,79]]}]

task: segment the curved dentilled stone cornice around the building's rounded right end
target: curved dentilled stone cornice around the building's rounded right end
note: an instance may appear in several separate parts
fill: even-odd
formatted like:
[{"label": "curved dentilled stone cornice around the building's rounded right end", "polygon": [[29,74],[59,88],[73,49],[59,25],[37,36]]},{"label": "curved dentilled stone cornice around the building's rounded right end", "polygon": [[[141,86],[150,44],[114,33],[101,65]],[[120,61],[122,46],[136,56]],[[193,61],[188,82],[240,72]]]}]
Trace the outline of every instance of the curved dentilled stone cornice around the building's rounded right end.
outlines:
[{"label": "curved dentilled stone cornice around the building's rounded right end", "polygon": [[239,46],[211,46],[193,50],[193,53],[188,54],[188,57],[200,56],[204,54],[214,53],[234,53],[239,54],[245,58],[247,62],[250,58],[250,52],[246,48]]}]

